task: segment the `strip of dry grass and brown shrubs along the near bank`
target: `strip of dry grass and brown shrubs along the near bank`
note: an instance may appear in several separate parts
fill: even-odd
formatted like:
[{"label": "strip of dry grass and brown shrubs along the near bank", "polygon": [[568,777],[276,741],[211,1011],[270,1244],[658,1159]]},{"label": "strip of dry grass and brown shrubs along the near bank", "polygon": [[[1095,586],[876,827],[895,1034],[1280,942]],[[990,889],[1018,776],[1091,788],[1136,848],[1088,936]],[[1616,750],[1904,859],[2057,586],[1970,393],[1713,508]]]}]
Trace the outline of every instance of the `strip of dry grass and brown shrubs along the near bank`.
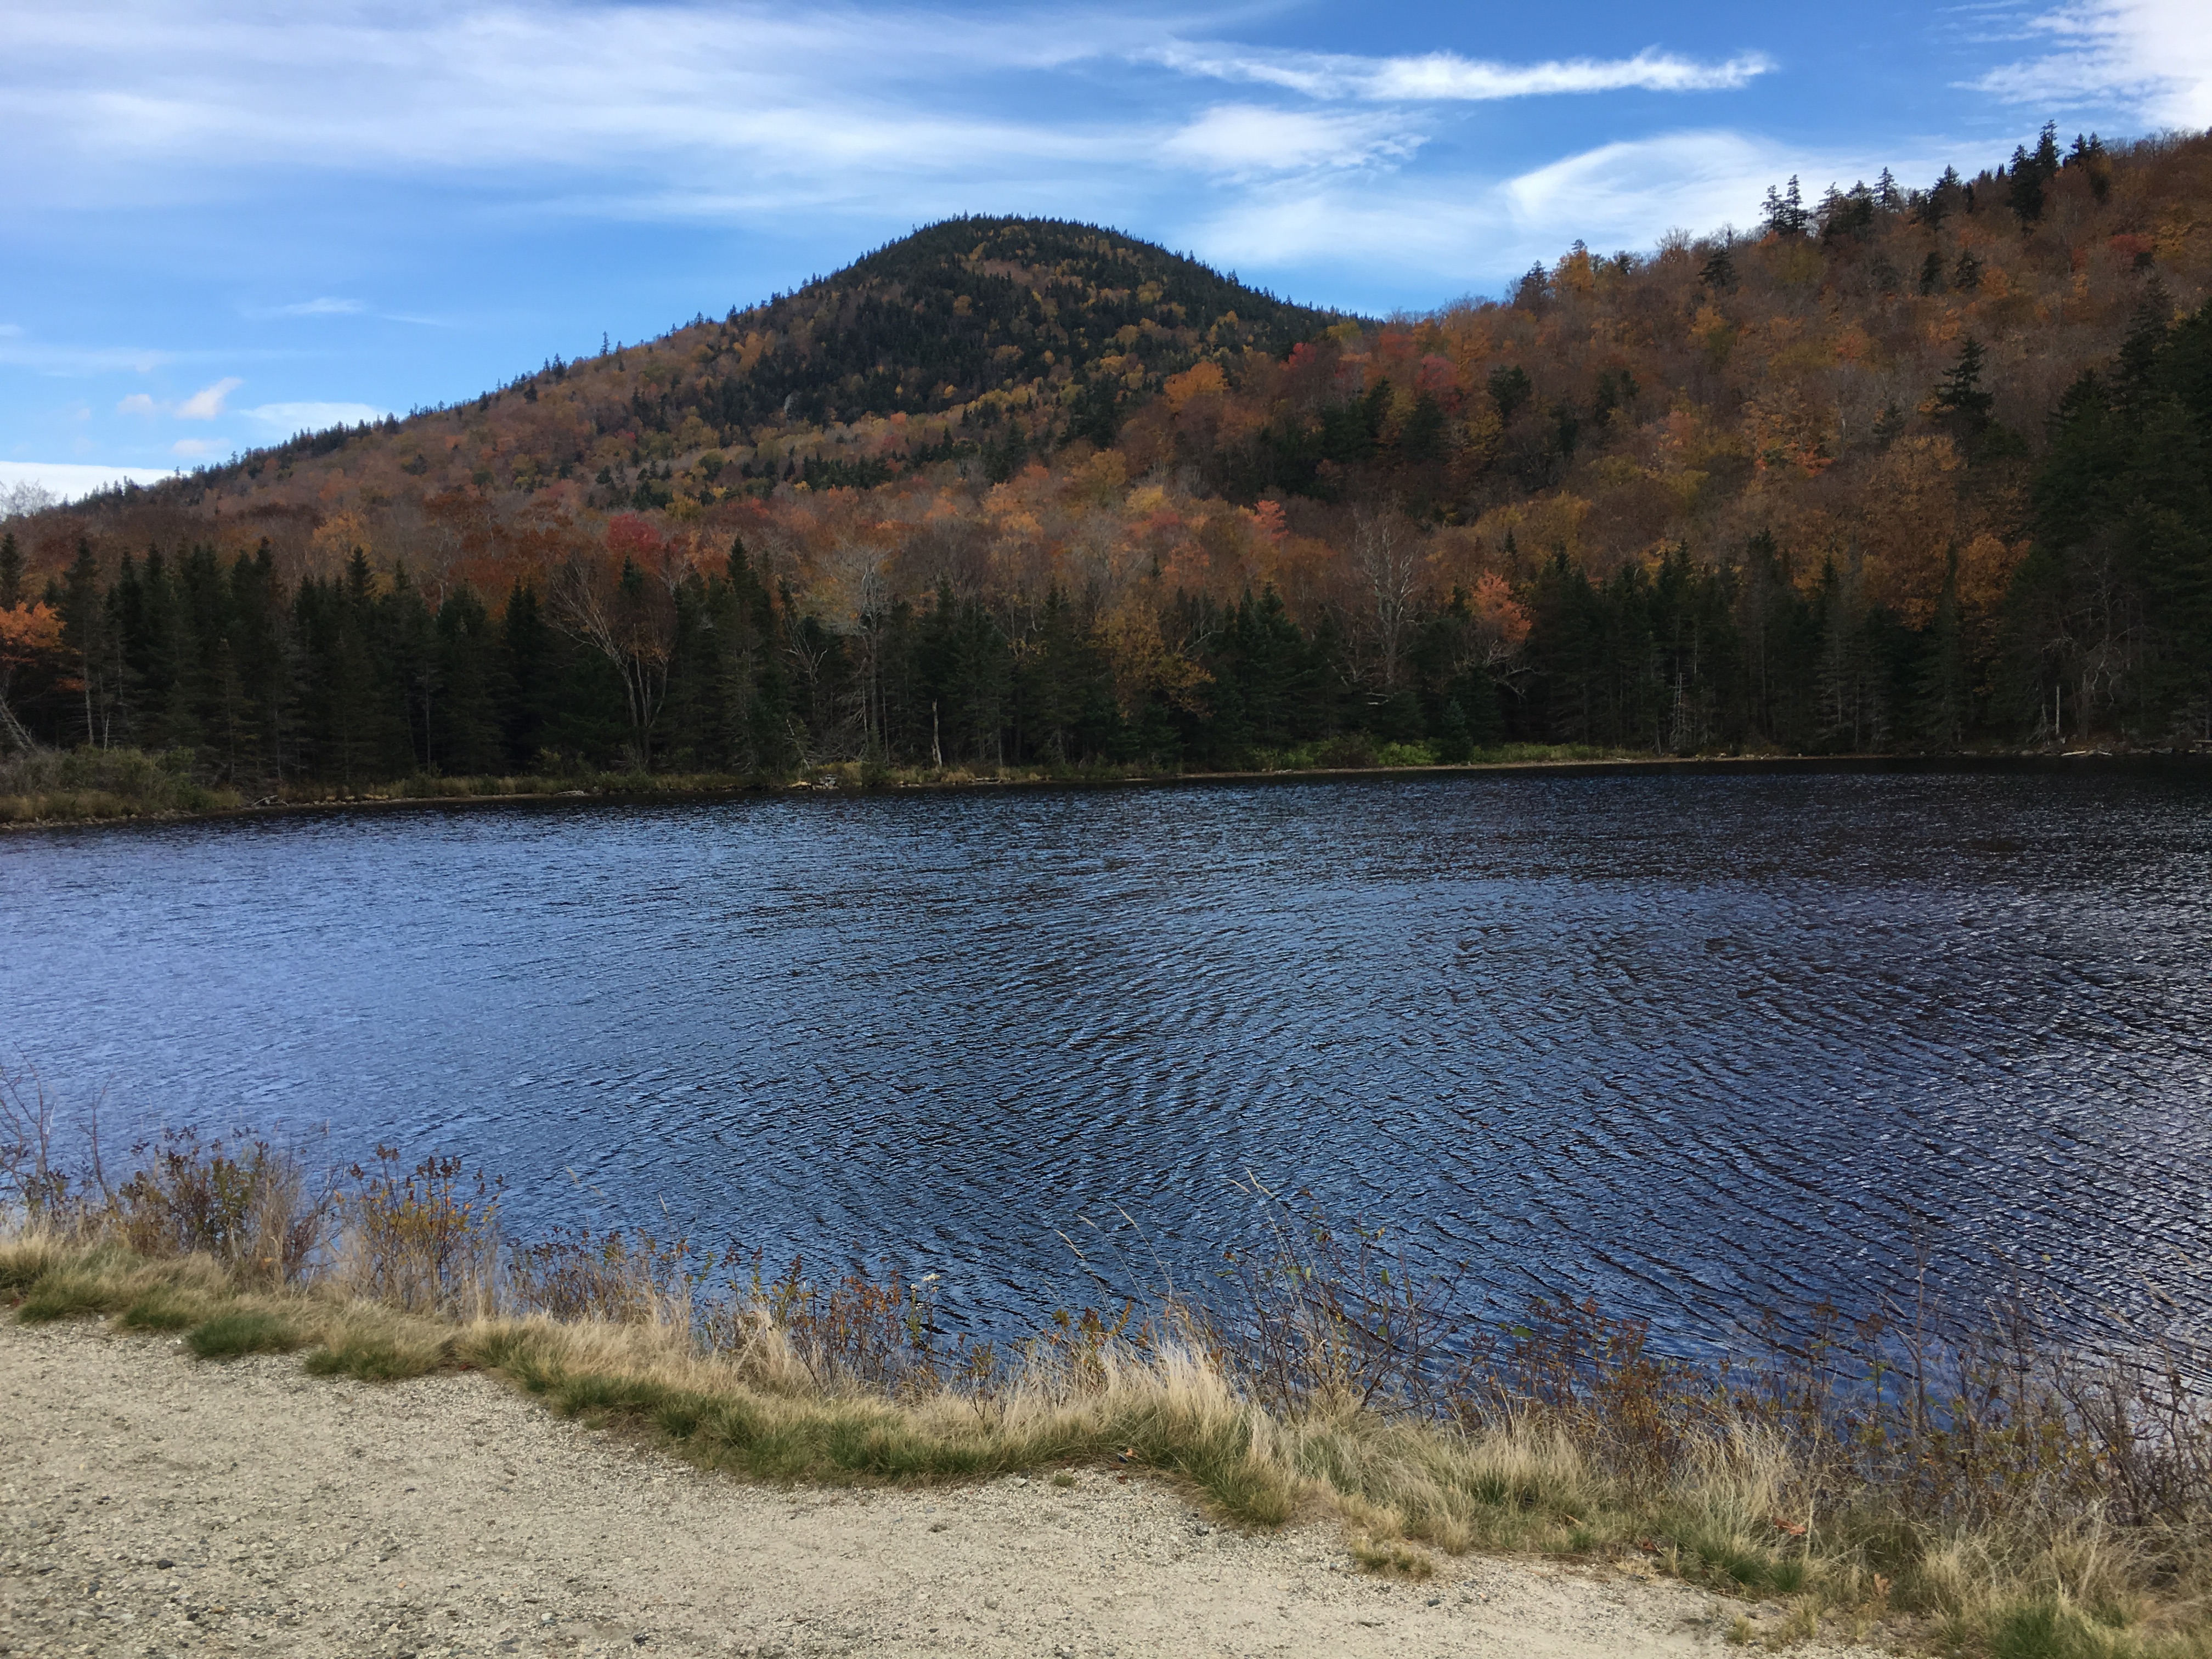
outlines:
[{"label": "strip of dry grass and brown shrubs along the near bank", "polygon": [[[7,1121],[7,1113],[0,1113]],[[1451,1316],[1385,1234],[1279,1212],[1210,1305],[945,1343],[896,1272],[765,1272],[644,1234],[498,1237],[498,1188],[389,1148],[338,1183],[177,1137],[64,1175],[13,1097],[0,1298],[314,1374],[480,1367],[549,1409],[779,1482],[1146,1469],[1217,1515],[1336,1515],[1374,1573],[1548,1553],[1778,1599],[1739,1637],[1995,1659],[2212,1652],[2208,1425],[2170,1352],[1867,1323],[1734,1369],[1573,1303]],[[1267,1201],[1265,1194],[1254,1194]]]}]

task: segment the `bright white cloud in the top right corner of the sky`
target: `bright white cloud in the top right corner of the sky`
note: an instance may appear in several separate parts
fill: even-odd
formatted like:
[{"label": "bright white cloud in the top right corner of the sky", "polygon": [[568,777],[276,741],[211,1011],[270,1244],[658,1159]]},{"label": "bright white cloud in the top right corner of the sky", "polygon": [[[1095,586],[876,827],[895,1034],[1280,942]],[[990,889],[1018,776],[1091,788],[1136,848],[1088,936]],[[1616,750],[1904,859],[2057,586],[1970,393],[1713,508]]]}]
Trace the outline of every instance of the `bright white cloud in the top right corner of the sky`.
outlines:
[{"label": "bright white cloud in the top right corner of the sky", "polygon": [[2057,51],[1993,69],[1973,91],[2017,104],[2117,106],[2163,126],[2212,126],[2212,18],[2203,0],[2084,0],[2031,29]]}]

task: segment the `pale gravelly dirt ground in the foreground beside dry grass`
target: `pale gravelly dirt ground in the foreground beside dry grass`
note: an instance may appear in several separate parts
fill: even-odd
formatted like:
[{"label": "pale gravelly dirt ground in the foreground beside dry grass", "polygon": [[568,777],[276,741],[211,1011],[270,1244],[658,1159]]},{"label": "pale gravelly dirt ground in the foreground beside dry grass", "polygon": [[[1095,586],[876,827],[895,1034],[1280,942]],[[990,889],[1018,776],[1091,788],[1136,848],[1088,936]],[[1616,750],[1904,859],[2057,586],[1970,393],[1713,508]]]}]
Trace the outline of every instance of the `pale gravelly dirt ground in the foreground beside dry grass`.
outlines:
[{"label": "pale gravelly dirt ground in the foreground beside dry grass", "polygon": [[[482,1376],[199,1365],[0,1327],[4,1655],[1712,1652],[1743,1604],[1444,1559],[1358,1573],[1329,1524],[1248,1535],[1146,1480],[776,1491]],[[1774,1613],[1774,1610],[1770,1610]]]}]

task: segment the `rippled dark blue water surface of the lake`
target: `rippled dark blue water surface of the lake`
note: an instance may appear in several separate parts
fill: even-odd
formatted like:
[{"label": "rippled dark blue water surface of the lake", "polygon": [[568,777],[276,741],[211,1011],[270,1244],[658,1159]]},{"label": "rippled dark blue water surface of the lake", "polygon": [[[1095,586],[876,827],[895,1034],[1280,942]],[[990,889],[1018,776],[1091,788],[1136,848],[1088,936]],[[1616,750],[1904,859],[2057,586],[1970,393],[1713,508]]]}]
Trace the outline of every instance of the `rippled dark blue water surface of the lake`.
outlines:
[{"label": "rippled dark blue water surface of the lake", "polygon": [[896,1254],[975,1321],[1086,1294],[1084,1217],[1203,1281],[1245,1172],[1677,1340],[1916,1250],[2203,1305],[2208,805],[1599,776],[15,836],[0,1057],[111,1121],[458,1150],[524,1232]]}]

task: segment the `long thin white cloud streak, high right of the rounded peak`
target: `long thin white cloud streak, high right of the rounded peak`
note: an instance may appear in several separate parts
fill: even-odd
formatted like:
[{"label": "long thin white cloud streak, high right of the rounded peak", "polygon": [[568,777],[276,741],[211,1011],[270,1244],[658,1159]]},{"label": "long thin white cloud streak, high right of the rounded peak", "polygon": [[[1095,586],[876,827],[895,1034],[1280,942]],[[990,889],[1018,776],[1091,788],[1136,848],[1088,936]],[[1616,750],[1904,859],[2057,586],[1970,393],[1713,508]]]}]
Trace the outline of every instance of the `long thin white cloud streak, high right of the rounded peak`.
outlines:
[{"label": "long thin white cloud streak, high right of the rounded peak", "polygon": [[1701,64],[1661,51],[1635,58],[1568,58],[1542,64],[1500,64],[1431,51],[1409,58],[1347,58],[1340,53],[1261,53],[1245,46],[1172,44],[1146,53],[1186,75],[1281,86],[1307,97],[1389,102],[1489,102],[1551,93],[1714,93],[1767,73],[1759,53]]}]

